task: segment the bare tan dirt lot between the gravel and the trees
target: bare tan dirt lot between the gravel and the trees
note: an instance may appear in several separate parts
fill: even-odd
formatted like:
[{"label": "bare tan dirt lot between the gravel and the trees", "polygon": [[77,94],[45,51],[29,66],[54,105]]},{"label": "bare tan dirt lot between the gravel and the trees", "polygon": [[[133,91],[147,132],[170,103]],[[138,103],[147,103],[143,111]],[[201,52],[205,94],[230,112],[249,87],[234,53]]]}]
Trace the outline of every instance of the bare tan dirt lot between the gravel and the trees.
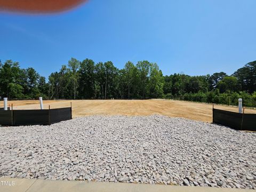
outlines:
[{"label": "bare tan dirt lot between the gravel and the trees", "polygon": [[[69,107],[72,102],[73,117],[85,115],[153,115],[161,114],[170,117],[185,117],[204,122],[212,122],[212,105],[188,101],[163,99],[150,100],[44,100],[44,109]],[[39,109],[39,101],[9,101],[13,109]],[[1,102],[3,107],[3,102]],[[236,107],[215,105],[215,108],[238,111]],[[255,113],[256,110],[245,109],[245,113]]]}]

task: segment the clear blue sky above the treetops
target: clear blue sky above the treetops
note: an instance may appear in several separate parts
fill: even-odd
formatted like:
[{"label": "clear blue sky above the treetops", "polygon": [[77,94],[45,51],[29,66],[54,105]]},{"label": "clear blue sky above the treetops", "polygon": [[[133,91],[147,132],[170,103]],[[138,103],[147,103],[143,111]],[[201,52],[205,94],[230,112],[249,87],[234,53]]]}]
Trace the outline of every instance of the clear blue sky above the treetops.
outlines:
[{"label": "clear blue sky above the treetops", "polygon": [[255,0],[90,0],[58,14],[0,12],[0,59],[49,76],[71,57],[229,75],[256,60]]}]

